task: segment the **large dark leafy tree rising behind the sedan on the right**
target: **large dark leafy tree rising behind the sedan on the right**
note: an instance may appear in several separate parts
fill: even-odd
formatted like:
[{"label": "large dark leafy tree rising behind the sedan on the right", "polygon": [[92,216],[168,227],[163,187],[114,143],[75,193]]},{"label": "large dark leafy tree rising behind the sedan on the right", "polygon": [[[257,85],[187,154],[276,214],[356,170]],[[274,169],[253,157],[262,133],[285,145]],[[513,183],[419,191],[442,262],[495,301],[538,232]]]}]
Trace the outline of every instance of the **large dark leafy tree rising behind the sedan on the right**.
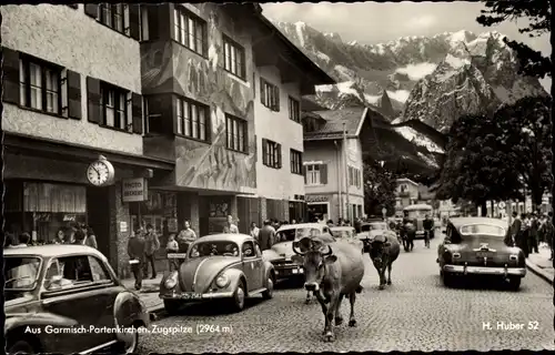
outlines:
[{"label": "large dark leafy tree rising behind the sedan on the right", "polygon": [[454,203],[468,200],[482,207],[486,201],[521,197],[522,183],[513,166],[516,154],[493,115],[464,115],[450,130],[446,160],[436,196]]}]

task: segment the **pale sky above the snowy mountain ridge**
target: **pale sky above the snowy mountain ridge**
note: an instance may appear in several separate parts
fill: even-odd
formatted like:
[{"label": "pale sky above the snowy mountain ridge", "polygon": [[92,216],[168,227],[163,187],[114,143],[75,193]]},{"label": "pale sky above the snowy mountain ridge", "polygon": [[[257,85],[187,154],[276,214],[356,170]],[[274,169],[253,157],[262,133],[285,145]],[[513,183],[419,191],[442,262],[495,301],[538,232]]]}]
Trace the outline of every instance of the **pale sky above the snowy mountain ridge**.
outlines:
[{"label": "pale sky above the snowy mountain ridge", "polygon": [[[548,55],[549,36],[528,38],[518,33],[525,20],[483,27],[476,17],[484,9],[481,2],[355,2],[355,3],[264,3],[265,17],[286,22],[302,21],[322,32],[336,32],[343,41],[356,40],[362,44],[377,44],[408,36],[433,36],[467,30],[474,33],[498,31],[511,40],[522,41]],[[542,80],[551,91],[551,80]]]}]

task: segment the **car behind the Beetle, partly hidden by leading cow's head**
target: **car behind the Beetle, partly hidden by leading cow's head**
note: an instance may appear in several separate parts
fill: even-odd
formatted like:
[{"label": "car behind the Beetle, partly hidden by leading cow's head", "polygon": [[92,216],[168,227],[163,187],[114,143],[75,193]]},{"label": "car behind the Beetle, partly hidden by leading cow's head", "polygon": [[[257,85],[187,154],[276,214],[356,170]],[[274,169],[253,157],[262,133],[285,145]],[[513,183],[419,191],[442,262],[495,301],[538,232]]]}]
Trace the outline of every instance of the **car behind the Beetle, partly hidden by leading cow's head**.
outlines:
[{"label": "car behind the Beetle, partly hidden by leading cow's head", "polygon": [[299,223],[282,225],[275,233],[275,241],[272,248],[263,252],[264,260],[274,265],[276,280],[304,280],[303,267],[293,263],[291,256],[294,255],[293,243],[305,236],[319,236],[324,242],[335,241],[325,224]]}]

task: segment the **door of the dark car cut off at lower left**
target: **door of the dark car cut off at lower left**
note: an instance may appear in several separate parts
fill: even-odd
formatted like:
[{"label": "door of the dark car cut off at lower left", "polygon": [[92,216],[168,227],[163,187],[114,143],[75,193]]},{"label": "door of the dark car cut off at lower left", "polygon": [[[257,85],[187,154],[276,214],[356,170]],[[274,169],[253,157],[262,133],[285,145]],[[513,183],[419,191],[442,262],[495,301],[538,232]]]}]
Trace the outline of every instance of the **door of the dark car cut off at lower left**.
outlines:
[{"label": "door of the dark car cut off at lower left", "polygon": [[[95,332],[99,318],[99,310],[104,306],[99,303],[92,286],[92,278],[88,278],[87,255],[72,255],[53,258],[53,263],[60,265],[61,281],[52,282],[44,280],[46,284],[41,292],[41,302],[46,312],[74,320],[75,328],[82,327],[83,332],[62,333],[56,335],[56,349],[61,353],[83,352],[103,344],[103,336]],[[50,270],[49,266],[49,270]],[[47,272],[48,273],[48,272]],[[89,273],[90,275],[90,273]],[[104,332],[105,333],[105,332]]]}]

